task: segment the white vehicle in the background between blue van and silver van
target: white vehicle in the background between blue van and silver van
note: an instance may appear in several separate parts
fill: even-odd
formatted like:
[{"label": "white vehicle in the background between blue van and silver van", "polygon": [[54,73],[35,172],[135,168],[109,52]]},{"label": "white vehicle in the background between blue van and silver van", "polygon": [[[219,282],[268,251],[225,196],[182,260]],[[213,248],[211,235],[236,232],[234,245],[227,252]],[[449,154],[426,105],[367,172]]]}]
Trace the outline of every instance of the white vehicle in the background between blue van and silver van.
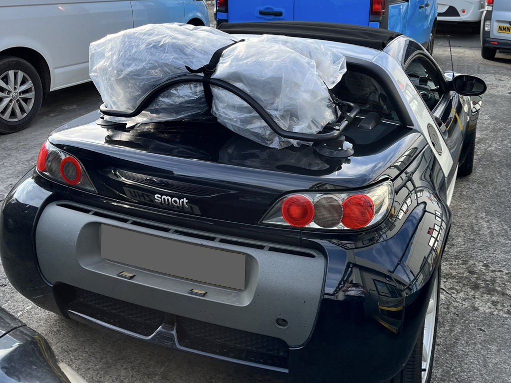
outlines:
[{"label": "white vehicle in the background between blue van and silver van", "polygon": [[438,21],[472,23],[473,32],[479,33],[485,0],[438,0]]}]

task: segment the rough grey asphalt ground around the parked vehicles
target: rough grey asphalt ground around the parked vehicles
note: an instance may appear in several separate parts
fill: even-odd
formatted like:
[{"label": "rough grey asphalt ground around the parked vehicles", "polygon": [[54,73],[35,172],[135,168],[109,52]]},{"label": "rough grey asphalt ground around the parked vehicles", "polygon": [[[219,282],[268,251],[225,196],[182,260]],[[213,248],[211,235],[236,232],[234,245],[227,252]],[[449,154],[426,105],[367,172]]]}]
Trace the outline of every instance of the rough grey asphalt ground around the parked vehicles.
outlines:
[{"label": "rough grey asphalt ground around the parked vehicles", "polygon": [[[436,36],[433,56],[448,70],[443,33],[440,29]],[[489,88],[479,117],[474,173],[458,179],[451,204],[454,221],[442,262],[433,382],[511,382],[511,55],[486,61],[479,36],[469,28],[445,33],[451,36],[455,71],[478,75]],[[35,165],[53,129],[100,104],[90,83],[56,91],[29,128],[0,136],[0,203]],[[285,378],[63,319],[18,294],[1,268],[0,305],[39,331],[57,357],[89,383],[276,383]]]}]

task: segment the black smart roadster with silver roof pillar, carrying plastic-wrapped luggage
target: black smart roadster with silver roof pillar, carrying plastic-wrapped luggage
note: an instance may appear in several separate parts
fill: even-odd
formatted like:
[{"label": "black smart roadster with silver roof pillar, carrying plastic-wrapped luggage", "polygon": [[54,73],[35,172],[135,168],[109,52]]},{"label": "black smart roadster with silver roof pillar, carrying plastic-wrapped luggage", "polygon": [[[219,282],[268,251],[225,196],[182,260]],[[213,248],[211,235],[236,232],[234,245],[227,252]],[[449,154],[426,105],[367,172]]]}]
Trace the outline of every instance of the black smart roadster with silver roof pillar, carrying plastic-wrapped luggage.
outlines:
[{"label": "black smart roadster with silver roof pillar, carrying plastic-wrapped luggage", "polygon": [[[380,29],[229,23],[238,36],[343,51],[339,124],[273,149],[216,119],[124,124],[106,107],[55,130],[7,196],[0,252],[37,305],[291,382],[431,377],[456,177],[472,172],[480,95],[423,46]],[[346,142],[348,144],[346,144]]]}]

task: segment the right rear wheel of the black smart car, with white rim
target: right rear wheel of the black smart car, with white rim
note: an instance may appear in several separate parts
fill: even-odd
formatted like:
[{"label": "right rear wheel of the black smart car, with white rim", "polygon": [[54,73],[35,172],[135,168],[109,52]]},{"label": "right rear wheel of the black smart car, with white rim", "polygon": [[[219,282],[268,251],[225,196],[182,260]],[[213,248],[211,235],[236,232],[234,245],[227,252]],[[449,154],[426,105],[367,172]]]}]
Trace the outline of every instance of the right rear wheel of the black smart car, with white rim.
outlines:
[{"label": "right rear wheel of the black smart car, with white rim", "polygon": [[[436,289],[433,288],[433,292],[431,294],[430,306],[428,307],[428,313],[430,313],[430,309],[432,312],[430,317],[426,316],[425,320],[425,329],[419,335],[417,342],[415,343],[415,347],[413,348],[412,354],[406,363],[405,367],[401,372],[394,376],[392,379],[386,381],[385,383],[430,383],[431,382],[431,372],[433,367],[433,358],[435,355],[435,342],[436,342],[436,329],[438,323],[438,304],[440,302],[440,268],[438,268],[438,272],[435,279],[432,280],[433,283],[436,284]],[[435,299],[433,299],[433,297]],[[430,332],[426,331],[426,325],[430,326]],[[423,347],[424,347],[424,339],[425,334],[428,334],[428,346],[430,348],[429,354],[431,356],[427,358],[427,361],[423,360]],[[430,343],[431,342],[431,343]],[[427,349],[426,347],[426,349]],[[424,371],[424,369],[426,371]]]}]

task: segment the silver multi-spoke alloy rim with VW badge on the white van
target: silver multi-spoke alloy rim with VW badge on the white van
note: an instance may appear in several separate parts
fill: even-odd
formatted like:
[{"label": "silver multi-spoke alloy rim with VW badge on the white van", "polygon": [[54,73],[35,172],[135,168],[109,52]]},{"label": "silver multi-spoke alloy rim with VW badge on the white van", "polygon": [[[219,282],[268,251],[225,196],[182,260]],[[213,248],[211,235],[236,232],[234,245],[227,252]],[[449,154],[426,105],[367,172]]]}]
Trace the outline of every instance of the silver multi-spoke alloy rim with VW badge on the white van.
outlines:
[{"label": "silver multi-spoke alloy rim with VW badge on the white van", "polygon": [[0,118],[17,122],[34,106],[35,87],[22,70],[11,69],[0,76]]}]

